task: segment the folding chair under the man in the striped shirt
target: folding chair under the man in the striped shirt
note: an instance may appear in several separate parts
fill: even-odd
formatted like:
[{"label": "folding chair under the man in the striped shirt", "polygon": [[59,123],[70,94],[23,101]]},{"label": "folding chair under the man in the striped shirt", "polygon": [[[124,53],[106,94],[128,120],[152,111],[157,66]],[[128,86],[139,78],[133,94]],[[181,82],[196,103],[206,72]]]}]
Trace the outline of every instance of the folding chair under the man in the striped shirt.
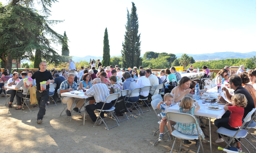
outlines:
[{"label": "folding chair under the man in the striped shirt", "polygon": [[[112,126],[111,128],[114,128],[114,127],[116,127],[116,126],[119,126],[119,123],[118,123],[118,121],[116,120],[117,117],[116,117],[115,114],[113,113],[113,111],[115,110],[115,107],[112,106],[110,109],[106,109],[106,110],[103,109],[103,107],[104,107],[106,101],[116,100],[118,97],[119,97],[119,93],[115,93],[115,94],[109,95],[108,97],[106,97],[106,100],[105,100],[105,102],[104,102],[102,108],[101,108],[101,109],[96,109],[96,110],[97,110],[97,113],[98,113],[98,118],[97,118],[96,122],[94,123],[94,126],[95,126],[95,124],[97,123],[97,121],[102,121],[102,122],[106,125],[106,123],[105,123],[104,120],[110,118],[109,115],[108,115],[107,118],[101,118],[101,116],[100,116],[100,113],[101,113],[101,112],[109,112],[109,113],[112,115],[112,117],[114,117],[114,118],[112,118],[112,119],[114,119],[114,120],[116,121],[117,125],[114,125],[114,126]],[[100,119],[99,119],[99,118],[100,118]],[[108,126],[106,125],[106,129],[109,130],[109,129],[111,129],[111,128],[108,128]]]}]

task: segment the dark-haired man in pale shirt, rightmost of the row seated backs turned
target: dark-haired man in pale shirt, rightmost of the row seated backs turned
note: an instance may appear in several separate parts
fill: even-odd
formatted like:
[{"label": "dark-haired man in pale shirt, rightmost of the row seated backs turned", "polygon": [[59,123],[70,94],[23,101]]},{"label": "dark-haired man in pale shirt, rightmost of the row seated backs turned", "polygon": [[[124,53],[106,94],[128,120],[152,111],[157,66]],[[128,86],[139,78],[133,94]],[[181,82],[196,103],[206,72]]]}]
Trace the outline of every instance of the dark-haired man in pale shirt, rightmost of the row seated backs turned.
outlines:
[{"label": "dark-haired man in pale shirt, rightmost of the row seated backs turned", "polygon": [[159,89],[156,89],[156,91],[155,91],[156,86],[159,85],[157,76],[152,74],[152,71],[150,69],[145,70],[145,76],[150,81],[150,85],[151,85],[151,89],[150,89],[148,96],[151,97],[151,96],[157,95],[159,92]]}]

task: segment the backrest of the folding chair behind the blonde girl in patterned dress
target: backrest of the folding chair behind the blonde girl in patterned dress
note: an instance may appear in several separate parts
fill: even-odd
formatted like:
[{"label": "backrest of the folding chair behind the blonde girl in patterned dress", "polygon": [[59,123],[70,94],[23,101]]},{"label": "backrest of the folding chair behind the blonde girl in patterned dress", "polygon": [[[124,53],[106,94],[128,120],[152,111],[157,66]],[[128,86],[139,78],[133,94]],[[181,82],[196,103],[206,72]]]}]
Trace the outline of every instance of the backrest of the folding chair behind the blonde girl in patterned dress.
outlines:
[{"label": "backrest of the folding chair behind the blonde girl in patterned dress", "polygon": [[196,124],[196,118],[191,114],[185,114],[185,113],[179,113],[179,112],[167,112],[166,118],[174,122]]}]

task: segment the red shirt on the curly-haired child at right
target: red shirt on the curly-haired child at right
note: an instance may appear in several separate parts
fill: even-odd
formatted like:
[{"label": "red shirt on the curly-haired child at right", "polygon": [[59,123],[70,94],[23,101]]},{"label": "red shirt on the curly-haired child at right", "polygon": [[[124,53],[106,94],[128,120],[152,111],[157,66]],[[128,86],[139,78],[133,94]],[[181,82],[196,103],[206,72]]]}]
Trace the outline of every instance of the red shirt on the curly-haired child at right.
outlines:
[{"label": "red shirt on the curly-haired child at right", "polygon": [[232,128],[237,128],[241,126],[242,123],[242,118],[244,115],[244,108],[243,107],[238,107],[238,106],[228,106],[228,110],[231,112],[229,116],[229,121],[228,124]]}]

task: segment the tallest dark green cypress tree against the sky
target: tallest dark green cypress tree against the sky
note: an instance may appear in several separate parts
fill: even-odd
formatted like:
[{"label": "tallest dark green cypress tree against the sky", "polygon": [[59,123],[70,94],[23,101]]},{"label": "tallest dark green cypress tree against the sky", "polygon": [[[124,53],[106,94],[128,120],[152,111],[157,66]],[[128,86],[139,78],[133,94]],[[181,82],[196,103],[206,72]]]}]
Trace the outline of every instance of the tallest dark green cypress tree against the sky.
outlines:
[{"label": "tallest dark green cypress tree against the sky", "polygon": [[126,32],[125,32],[125,42],[123,42],[122,53],[122,67],[128,68],[133,66],[141,65],[140,58],[140,34],[139,33],[139,23],[138,15],[136,13],[137,8],[132,2],[131,14],[127,9],[127,23],[126,23]]}]

